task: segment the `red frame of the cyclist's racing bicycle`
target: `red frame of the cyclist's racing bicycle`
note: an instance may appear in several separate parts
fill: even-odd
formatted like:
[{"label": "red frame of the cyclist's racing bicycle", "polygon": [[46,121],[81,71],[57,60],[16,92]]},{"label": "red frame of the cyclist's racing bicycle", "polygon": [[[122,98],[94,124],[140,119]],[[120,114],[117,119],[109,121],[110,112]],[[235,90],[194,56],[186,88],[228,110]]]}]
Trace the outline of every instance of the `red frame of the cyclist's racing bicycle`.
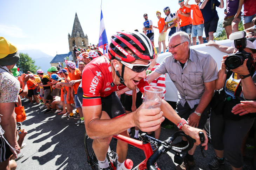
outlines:
[{"label": "red frame of the cyclist's racing bicycle", "polygon": [[[133,170],[144,170],[144,169],[147,169],[147,161],[148,161],[148,158],[153,155],[153,150],[150,146],[150,143],[146,143],[146,144],[143,144],[142,141],[139,141],[139,140],[135,140],[135,139],[132,139],[132,138],[129,138],[127,136],[123,136],[123,135],[113,135],[113,138],[115,139],[119,139],[123,142],[126,142],[130,145],[133,145],[141,150],[144,151],[144,154],[145,154],[145,157],[146,159],[144,161],[142,161],[139,165],[137,165],[135,168],[133,168]],[[155,167],[160,170],[158,167],[157,167],[157,163],[155,163]]]}]

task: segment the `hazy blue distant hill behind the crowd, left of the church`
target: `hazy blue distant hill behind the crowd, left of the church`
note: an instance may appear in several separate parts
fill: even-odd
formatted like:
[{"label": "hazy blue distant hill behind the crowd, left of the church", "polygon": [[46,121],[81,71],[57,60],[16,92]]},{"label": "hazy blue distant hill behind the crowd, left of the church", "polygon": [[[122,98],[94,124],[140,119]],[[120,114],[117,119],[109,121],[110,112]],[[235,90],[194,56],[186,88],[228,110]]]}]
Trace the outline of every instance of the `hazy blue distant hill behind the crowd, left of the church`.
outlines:
[{"label": "hazy blue distant hill behind the crowd, left of the church", "polygon": [[29,57],[35,60],[35,65],[40,66],[42,71],[47,73],[47,69],[50,68],[50,61],[54,58],[41,50],[19,50],[21,53],[27,53]]}]

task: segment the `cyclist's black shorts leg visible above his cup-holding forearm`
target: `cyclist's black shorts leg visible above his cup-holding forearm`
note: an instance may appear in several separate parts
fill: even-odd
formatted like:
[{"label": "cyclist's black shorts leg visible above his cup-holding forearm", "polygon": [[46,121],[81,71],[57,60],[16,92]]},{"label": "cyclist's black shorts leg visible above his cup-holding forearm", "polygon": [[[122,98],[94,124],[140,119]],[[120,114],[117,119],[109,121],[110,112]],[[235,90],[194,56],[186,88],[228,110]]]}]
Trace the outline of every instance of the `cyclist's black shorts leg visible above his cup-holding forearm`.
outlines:
[{"label": "cyclist's black shorts leg visible above his cup-holding forearm", "polygon": [[102,111],[108,113],[108,116],[113,119],[125,115],[123,105],[115,92],[107,97],[101,97]]}]

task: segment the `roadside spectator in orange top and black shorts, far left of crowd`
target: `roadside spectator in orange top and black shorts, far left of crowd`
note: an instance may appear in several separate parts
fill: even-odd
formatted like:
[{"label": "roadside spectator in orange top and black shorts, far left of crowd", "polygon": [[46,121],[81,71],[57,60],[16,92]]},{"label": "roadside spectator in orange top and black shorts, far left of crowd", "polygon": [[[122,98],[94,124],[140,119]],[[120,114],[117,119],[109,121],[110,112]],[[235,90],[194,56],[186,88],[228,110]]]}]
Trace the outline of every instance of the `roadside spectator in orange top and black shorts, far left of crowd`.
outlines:
[{"label": "roadside spectator in orange top and black shorts, far left of crowd", "polygon": [[37,92],[37,87],[38,87],[38,84],[31,79],[31,77],[34,77],[33,74],[29,74],[30,78],[29,80],[27,81],[27,87],[28,87],[28,97],[30,99],[30,103],[29,104],[33,104],[33,99],[32,99],[32,96],[34,96],[34,99],[35,99],[35,102],[37,104],[39,104],[39,99],[38,99],[38,92]]}]

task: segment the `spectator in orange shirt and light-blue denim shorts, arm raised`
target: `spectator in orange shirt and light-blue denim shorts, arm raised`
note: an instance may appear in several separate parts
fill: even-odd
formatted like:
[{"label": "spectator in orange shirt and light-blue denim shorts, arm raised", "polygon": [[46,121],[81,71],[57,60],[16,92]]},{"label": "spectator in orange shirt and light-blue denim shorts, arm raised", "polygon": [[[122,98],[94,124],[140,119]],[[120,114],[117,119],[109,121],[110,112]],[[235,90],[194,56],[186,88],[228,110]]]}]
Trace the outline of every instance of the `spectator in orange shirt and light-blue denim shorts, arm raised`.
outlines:
[{"label": "spectator in orange shirt and light-blue denim shorts, arm raised", "polygon": [[198,36],[199,44],[203,44],[203,27],[204,27],[204,20],[201,10],[198,7],[198,4],[201,0],[195,0],[197,4],[188,5],[187,0],[184,4],[185,7],[190,8],[193,10],[193,19],[192,19],[192,45],[196,45],[196,36]]}]

